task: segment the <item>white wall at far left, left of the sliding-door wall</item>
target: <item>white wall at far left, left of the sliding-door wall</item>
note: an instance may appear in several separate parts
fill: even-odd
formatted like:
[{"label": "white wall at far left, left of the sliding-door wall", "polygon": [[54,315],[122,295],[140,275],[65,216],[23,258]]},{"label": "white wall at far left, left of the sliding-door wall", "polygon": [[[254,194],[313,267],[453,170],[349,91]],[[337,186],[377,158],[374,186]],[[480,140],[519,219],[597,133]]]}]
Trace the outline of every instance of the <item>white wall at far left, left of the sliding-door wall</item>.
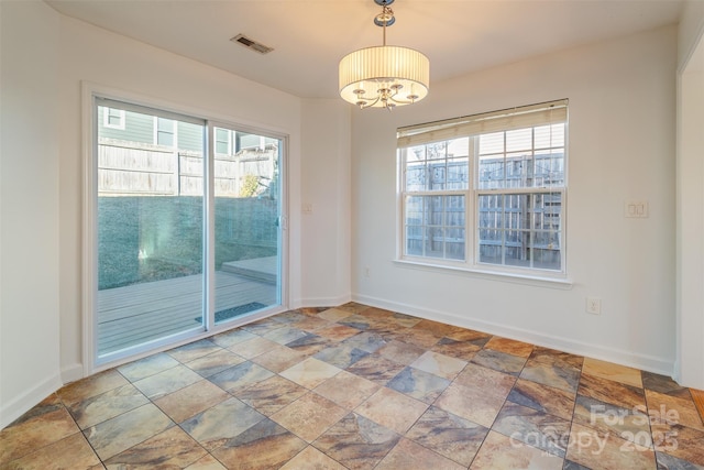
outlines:
[{"label": "white wall at far left, left of the sliding-door wall", "polygon": [[0,2],[0,427],[61,384],[58,17]]}]

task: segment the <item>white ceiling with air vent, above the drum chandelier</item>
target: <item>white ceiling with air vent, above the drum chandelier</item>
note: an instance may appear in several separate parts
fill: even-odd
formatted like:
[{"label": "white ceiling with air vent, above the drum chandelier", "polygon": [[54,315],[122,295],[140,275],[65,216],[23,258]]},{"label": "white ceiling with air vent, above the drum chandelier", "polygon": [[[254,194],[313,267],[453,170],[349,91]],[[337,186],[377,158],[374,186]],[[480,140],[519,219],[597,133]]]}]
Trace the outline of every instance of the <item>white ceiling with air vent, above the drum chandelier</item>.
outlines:
[{"label": "white ceiling with air vent, above the drum chandelier", "polygon": [[[338,96],[345,54],[380,45],[373,0],[46,0],[58,12],[304,98]],[[682,0],[398,0],[387,43],[432,84],[679,21]],[[274,47],[261,55],[230,39]]]}]

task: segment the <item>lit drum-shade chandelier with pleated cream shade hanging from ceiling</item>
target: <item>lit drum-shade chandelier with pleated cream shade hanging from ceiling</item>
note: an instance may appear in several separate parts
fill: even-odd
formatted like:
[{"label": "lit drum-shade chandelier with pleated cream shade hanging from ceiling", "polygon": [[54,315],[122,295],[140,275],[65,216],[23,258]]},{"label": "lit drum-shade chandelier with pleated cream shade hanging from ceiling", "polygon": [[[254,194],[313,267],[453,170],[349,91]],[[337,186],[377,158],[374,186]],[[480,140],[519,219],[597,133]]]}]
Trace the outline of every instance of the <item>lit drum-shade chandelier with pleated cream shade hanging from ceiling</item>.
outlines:
[{"label": "lit drum-shade chandelier with pleated cream shade hanging from ceiling", "polygon": [[428,95],[430,63],[418,51],[386,45],[386,26],[396,22],[394,0],[374,0],[382,12],[374,24],[383,28],[384,43],[345,55],[340,61],[340,96],[364,108],[388,110],[420,101]]}]

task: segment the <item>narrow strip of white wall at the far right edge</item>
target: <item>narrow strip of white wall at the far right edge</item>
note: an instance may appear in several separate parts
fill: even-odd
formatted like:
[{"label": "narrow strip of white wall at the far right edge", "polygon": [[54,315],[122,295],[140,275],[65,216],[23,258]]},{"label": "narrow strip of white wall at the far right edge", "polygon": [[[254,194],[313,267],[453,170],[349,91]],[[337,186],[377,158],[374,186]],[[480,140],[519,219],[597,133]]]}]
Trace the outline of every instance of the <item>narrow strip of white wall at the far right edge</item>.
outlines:
[{"label": "narrow strip of white wall at the far right edge", "polygon": [[685,3],[678,57],[675,379],[704,389],[704,2]]}]

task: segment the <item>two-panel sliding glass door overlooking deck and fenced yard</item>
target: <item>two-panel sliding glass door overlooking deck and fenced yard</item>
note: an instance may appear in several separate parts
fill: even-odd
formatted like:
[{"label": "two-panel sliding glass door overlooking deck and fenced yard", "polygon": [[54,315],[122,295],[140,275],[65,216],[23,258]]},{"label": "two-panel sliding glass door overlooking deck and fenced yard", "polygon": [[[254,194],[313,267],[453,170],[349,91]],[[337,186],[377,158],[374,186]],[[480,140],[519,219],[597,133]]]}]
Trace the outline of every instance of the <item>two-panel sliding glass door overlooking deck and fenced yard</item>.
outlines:
[{"label": "two-panel sliding glass door overlooking deck and fenced yard", "polygon": [[285,140],[95,97],[96,363],[282,305]]}]

